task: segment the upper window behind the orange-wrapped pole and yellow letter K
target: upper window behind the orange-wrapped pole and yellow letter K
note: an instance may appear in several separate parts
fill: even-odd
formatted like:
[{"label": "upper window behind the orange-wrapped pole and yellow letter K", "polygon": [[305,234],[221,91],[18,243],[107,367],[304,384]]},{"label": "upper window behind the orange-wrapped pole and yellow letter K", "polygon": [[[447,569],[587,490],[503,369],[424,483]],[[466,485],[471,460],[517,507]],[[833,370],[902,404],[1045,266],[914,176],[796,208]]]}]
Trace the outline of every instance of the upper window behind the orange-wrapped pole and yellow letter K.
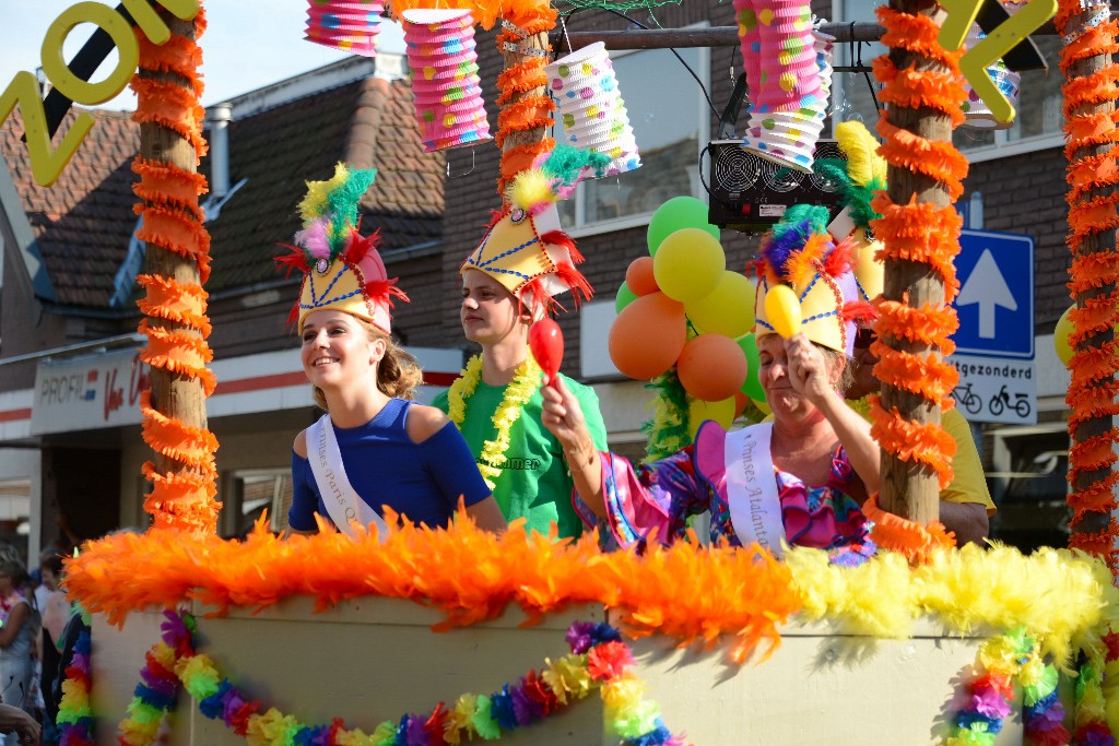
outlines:
[{"label": "upper window behind the orange-wrapped pole and yellow letter K", "polygon": [[[875,0],[835,0],[833,11],[837,21],[877,22],[874,9],[884,4]],[[1049,64],[1049,70],[1025,70],[1022,73],[1021,96],[1016,106],[1014,126],[1007,130],[985,130],[959,126],[952,141],[971,161],[1004,158],[1022,152],[1053,148],[1063,142],[1061,128],[1061,74],[1059,63],[1061,39],[1056,36],[1034,36],[1034,43]],[[861,48],[859,48],[861,47]],[[836,66],[854,65],[861,58],[866,66],[878,55],[885,54],[885,46],[878,43],[856,45],[854,59],[848,44],[836,45]],[[861,55],[859,55],[861,53]],[[869,74],[867,74],[869,75]],[[861,119],[873,131],[877,120],[874,98],[871,95],[881,89],[877,81],[869,75],[869,86],[862,73],[836,74],[831,87],[831,112],[837,121]]]}]

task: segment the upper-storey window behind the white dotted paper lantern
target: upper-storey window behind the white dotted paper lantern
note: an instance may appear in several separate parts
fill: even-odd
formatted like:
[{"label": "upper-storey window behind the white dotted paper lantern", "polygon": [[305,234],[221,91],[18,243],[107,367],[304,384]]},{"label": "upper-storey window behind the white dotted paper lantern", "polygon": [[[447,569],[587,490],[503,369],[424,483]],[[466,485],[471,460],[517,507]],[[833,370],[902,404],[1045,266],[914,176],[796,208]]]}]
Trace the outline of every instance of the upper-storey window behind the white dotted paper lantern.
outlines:
[{"label": "upper-storey window behind the white dotted paper lantern", "polygon": [[[711,53],[705,48],[677,53],[707,87]],[[610,230],[641,225],[665,200],[680,195],[703,198],[699,151],[711,125],[699,84],[669,49],[611,51],[610,59],[641,168],[580,185],[572,199],[558,205],[567,229],[606,227],[608,221]],[[566,142],[558,121],[554,136]]]}]

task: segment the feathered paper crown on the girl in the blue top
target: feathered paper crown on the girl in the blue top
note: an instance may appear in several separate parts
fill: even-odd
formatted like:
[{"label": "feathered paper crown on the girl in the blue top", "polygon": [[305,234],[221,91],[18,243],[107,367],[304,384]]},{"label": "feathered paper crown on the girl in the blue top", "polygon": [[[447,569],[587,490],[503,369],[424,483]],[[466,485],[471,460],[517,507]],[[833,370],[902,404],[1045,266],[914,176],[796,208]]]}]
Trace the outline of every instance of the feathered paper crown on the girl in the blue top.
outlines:
[{"label": "feathered paper crown on the girl in the blue top", "polygon": [[358,230],[358,201],[376,176],[373,169],[351,171],[338,163],[329,181],[307,182],[307,197],[299,204],[303,229],[295,234],[294,246],[283,244],[291,251],[276,257],[289,275],[303,274],[299,301],[288,318],[297,329],[312,311],[335,309],[392,332],[393,299],[408,298],[385,271],[377,252],[380,232],[363,236]]}]

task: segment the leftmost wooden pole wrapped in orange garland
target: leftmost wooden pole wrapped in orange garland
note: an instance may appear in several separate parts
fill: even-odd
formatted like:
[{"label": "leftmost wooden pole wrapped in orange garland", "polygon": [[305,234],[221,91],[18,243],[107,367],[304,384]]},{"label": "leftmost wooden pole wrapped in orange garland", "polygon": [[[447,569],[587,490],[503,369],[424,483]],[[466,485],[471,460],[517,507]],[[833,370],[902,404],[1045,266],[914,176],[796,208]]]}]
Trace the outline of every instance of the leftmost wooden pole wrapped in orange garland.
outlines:
[{"label": "leftmost wooden pole wrapped in orange garland", "polygon": [[206,367],[213,353],[206,343],[209,320],[203,284],[209,275],[209,234],[203,225],[198,197],[206,179],[198,159],[206,150],[198,103],[201,50],[196,38],[205,30],[200,3],[192,20],[159,11],[171,29],[164,45],[140,37],[140,72],[133,119],[140,124],[140,155],[132,169],[140,174],[135,206],[143,217],[137,235],[147,244],[147,273],[137,280],[147,291],[139,302],[148,337],[141,352],[151,366],[151,390],[141,398],[143,438],[154,457],[143,466],[152,482],[144,510],[154,528],[214,533],[220,503],[214,452],[217,438],[207,429],[206,397],[214,374]]}]

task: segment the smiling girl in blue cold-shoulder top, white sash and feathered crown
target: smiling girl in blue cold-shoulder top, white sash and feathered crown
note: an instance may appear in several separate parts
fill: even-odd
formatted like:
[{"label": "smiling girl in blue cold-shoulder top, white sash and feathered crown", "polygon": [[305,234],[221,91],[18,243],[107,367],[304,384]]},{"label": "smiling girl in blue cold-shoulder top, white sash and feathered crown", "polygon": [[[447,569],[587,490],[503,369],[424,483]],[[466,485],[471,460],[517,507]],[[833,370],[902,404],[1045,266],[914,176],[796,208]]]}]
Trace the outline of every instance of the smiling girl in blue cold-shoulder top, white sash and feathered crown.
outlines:
[{"label": "smiling girl in blue cold-shoulder top, white sash and feathered crown", "polygon": [[389,336],[392,301],[407,296],[388,278],[377,236],[356,227],[374,174],[339,164],[330,181],[310,182],[304,229],[278,259],[303,274],[292,318],[303,371],[328,413],[295,437],[289,525],[316,532],[318,513],[354,536],[355,522],[387,528],[387,507],[445,527],[461,500],[481,528],[502,530],[462,436],[442,412],[411,400],[422,374]]}]

